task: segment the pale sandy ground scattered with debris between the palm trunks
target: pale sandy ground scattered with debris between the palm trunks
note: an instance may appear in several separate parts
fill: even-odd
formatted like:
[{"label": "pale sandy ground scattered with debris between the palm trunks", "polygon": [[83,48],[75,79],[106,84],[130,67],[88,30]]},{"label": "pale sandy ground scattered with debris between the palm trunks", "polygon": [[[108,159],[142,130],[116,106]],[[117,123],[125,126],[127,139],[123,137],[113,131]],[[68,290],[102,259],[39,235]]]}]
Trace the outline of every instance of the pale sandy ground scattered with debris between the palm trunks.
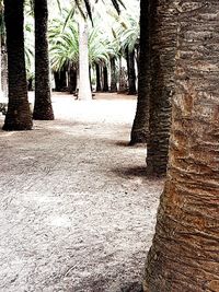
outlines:
[{"label": "pale sandy ground scattered with debris between the palm trunks", "polygon": [[53,104],[55,121],[0,130],[0,291],[140,292],[162,180],[127,147],[136,98]]}]

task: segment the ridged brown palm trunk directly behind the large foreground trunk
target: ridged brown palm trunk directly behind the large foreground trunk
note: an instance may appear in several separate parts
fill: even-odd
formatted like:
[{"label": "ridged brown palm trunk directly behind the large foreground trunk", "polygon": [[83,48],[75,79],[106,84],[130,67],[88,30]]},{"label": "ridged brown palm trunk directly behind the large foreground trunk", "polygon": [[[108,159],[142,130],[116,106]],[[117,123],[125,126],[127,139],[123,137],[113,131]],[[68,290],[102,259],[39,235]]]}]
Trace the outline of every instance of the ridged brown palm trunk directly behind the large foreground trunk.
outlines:
[{"label": "ridged brown palm trunk directly behind the large foreground trunk", "polygon": [[176,50],[175,0],[154,0],[150,4],[151,86],[148,139],[148,173],[165,175],[174,94]]}]

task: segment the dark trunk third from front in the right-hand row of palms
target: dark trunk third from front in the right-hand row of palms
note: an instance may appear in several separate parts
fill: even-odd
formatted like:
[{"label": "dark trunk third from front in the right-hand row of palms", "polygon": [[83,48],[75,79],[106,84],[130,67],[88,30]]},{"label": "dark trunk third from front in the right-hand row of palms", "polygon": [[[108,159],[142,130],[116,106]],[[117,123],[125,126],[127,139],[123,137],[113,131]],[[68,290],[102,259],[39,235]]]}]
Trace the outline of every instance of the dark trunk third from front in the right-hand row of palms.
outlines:
[{"label": "dark trunk third from front in the right-hand row of palms", "polygon": [[149,0],[140,1],[140,52],[138,73],[138,102],[130,135],[130,144],[146,143],[149,135],[150,45]]}]

